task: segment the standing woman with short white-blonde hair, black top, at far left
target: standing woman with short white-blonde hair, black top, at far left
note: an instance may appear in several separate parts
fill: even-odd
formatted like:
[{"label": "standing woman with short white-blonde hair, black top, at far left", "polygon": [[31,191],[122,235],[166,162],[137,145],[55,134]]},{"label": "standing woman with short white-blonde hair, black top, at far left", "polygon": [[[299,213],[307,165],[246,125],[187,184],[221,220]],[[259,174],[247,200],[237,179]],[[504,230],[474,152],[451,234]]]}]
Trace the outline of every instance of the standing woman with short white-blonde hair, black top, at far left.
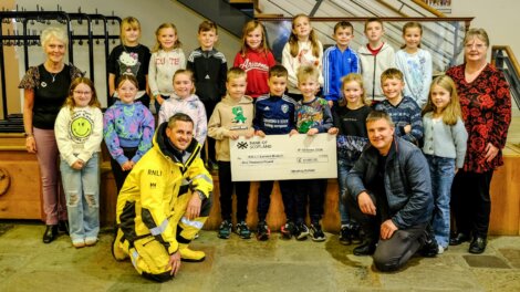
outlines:
[{"label": "standing woman with short white-blonde hair, black top, at far left", "polygon": [[54,122],[69,95],[71,82],[82,72],[74,65],[65,64],[64,56],[69,38],[60,28],[45,29],[40,41],[45,61],[31,66],[18,85],[23,88],[23,128],[25,148],[37,154],[42,179],[43,212],[46,229],[43,242],[52,242],[58,230],[69,232],[66,204],[60,191],[58,168],[58,145],[54,136]]}]

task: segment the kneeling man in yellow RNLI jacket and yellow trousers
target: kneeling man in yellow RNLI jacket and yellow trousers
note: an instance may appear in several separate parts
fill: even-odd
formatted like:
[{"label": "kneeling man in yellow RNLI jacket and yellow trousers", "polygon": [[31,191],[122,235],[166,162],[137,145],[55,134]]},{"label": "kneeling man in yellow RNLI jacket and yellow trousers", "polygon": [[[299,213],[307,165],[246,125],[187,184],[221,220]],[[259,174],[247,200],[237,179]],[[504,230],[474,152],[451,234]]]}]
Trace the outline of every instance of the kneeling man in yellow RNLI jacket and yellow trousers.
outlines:
[{"label": "kneeling man in yellow RNLI jacket and yellow trousers", "polygon": [[212,180],[199,157],[194,122],[175,114],[159,125],[154,146],[134,166],[117,197],[116,260],[131,258],[143,277],[164,282],[180,261],[202,261],[188,248],[211,208]]}]

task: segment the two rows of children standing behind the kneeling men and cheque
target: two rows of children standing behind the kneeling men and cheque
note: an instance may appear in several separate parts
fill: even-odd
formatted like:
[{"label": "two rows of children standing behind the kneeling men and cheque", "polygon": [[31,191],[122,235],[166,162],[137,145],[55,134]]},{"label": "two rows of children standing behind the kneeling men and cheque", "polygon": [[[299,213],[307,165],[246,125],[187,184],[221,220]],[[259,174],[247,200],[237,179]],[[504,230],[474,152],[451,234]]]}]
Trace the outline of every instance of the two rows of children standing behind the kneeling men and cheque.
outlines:
[{"label": "two rows of children standing behind the kneeling men and cheque", "polygon": [[[83,140],[61,137],[60,152],[66,161],[62,168],[84,169],[82,176],[89,176],[86,168],[92,159],[97,160],[94,154],[100,150],[103,133],[119,190],[126,175],[152,147],[155,121],[148,107],[155,106],[159,124],[175,113],[184,112],[195,122],[194,138],[201,145],[208,138],[208,167],[218,169],[222,217],[218,236],[227,239],[233,230],[231,198],[235,187],[235,231],[248,239],[251,237],[246,222],[250,184],[231,180],[229,139],[253,135],[336,135],[342,196],[346,192],[346,174],[368,143],[365,118],[375,107],[389,113],[398,136],[424,147],[434,178],[436,211],[433,227],[440,250],[447,248],[449,186],[462,165],[467,134],[454,82],[440,76],[431,83],[431,56],[420,49],[420,24],[405,24],[405,45],[395,54],[382,39],[381,20],[366,21],[364,31],[368,43],[357,52],[350,48],[353,25],[341,21],[333,32],[336,44],[323,52],[309,17],[298,14],[283,49],[282,65],[277,65],[267,45],[263,25],[253,20],[243,28],[242,45],[229,71],[225,55],[214,48],[218,30],[210,21],[199,25],[200,48],[187,59],[173,23],[164,23],[157,29],[157,43],[152,54],[138,42],[141,25],[137,19],[124,19],[121,31],[122,44],[114,48],[108,60],[111,106],[103,117],[103,131],[92,82],[82,79],[71,86],[67,103],[60,113],[63,117],[59,116],[60,123],[56,122],[56,136],[70,131],[64,123],[73,116],[81,117],[74,121],[83,122],[73,122],[72,131],[80,133],[77,129],[89,127],[89,135]],[[75,159],[70,155],[72,148],[81,149],[84,155],[75,155]],[[437,163],[440,158],[451,159],[453,167],[447,168],[444,164],[440,167]],[[66,173],[62,170],[64,181]],[[282,237],[303,240],[311,236],[315,241],[325,240],[320,220],[326,180],[281,180],[279,185],[287,216]],[[77,222],[71,222],[75,247],[95,243],[98,230],[98,215],[91,218],[89,212],[89,206],[97,204],[98,190],[93,192],[85,184],[83,186],[86,204],[83,201],[81,207],[82,200],[79,200],[77,208],[83,211],[75,212]],[[273,181],[260,182],[259,240],[270,237],[266,217],[272,187]],[[309,227],[305,223],[308,201]],[[360,227],[349,217],[342,202],[340,213],[341,242],[358,241]],[[95,220],[97,229],[92,228]],[[76,225],[82,226],[83,229],[79,227],[77,230],[84,230],[83,236],[74,231]]]}]

